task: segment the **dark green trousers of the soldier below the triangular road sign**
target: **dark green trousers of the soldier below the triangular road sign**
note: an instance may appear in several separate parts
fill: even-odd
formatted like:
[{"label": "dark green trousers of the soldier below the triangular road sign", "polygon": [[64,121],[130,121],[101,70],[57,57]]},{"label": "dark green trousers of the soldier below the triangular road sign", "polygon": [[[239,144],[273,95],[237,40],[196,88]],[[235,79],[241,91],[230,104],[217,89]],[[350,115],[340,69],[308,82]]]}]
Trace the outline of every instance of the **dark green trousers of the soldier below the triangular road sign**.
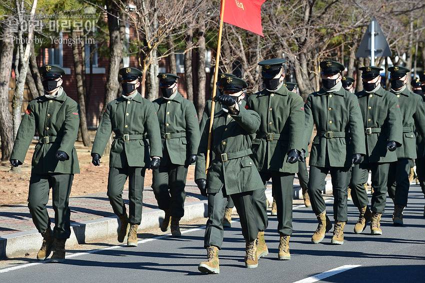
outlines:
[{"label": "dark green trousers of the soldier below the triangular road sign", "polygon": [[383,213],[386,203],[386,183],[388,181],[388,169],[390,163],[362,163],[352,167],[352,202],[357,208],[367,206],[369,200],[364,183],[367,182],[369,170],[371,172],[371,186],[373,188],[370,210]]}]

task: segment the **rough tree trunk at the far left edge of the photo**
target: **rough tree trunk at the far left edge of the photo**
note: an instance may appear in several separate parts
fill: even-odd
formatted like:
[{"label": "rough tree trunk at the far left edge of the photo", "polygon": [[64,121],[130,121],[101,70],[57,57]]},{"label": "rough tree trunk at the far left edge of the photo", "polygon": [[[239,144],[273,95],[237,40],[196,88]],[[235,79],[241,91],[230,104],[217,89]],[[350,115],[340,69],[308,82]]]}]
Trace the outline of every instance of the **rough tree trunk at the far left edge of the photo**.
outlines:
[{"label": "rough tree trunk at the far left edge of the photo", "polygon": [[13,148],[13,124],[9,110],[9,80],[13,59],[14,35],[4,21],[1,22],[2,40],[0,40],[0,135],[1,161],[9,160]]}]

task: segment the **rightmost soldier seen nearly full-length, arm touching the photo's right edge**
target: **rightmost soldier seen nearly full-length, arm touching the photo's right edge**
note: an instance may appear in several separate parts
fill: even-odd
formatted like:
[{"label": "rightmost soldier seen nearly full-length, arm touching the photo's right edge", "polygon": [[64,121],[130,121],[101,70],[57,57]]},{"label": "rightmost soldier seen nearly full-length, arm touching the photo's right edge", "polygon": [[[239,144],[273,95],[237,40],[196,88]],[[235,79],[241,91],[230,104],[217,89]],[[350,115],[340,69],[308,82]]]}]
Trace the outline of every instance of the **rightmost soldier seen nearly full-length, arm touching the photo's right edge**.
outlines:
[{"label": "rightmost soldier seen nearly full-length, arm touching the photo's right edge", "polygon": [[[398,98],[403,123],[402,145],[397,147],[397,161],[389,165],[388,195],[394,199],[392,222],[396,226],[403,224],[403,209],[407,206],[409,191],[409,171],[411,159],[416,158],[416,138],[414,127],[422,139],[425,137],[425,108],[423,100],[406,87],[407,72],[410,70],[401,66],[389,67],[391,78],[391,93]],[[419,154],[423,157],[423,152]]]}]

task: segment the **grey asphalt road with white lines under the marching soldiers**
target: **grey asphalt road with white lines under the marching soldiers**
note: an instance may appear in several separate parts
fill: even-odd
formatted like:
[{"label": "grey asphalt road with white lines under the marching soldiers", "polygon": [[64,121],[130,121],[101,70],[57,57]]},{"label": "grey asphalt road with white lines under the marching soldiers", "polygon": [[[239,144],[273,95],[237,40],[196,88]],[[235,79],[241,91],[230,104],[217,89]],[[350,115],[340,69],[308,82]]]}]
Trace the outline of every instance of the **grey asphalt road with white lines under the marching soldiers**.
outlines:
[{"label": "grey asphalt road with white lines under the marching soldiers", "polygon": [[[200,273],[197,265],[206,259],[205,219],[201,219],[183,224],[181,238],[152,232],[140,236],[144,239],[137,247],[114,245],[115,239],[93,243],[82,251],[67,250],[63,263],[39,263],[33,258],[3,261],[0,282],[425,282],[423,193],[419,186],[410,186],[404,226],[393,226],[393,204],[387,200],[383,234],[375,236],[369,234],[369,227],[361,234],[353,233],[358,210],[349,201],[342,245],[330,244],[331,232],[322,242],[311,243],[317,220],[310,207],[294,207],[290,260],[277,260],[277,220],[269,216],[265,233],[269,254],[257,268],[244,267],[244,240],[239,222],[233,221],[219,251],[220,274]],[[332,219],[332,201],[326,205]]]}]

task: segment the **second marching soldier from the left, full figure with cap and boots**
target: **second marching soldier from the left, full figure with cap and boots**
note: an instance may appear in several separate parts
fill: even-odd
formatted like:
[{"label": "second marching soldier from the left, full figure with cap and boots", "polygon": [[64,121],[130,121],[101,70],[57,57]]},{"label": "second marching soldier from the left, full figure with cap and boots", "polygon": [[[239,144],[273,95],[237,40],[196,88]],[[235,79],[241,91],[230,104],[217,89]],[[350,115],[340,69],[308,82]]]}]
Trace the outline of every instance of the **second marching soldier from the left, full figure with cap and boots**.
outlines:
[{"label": "second marching soldier from the left, full figure with cap and boots", "polygon": [[[121,68],[121,96],[110,101],[100,118],[91,149],[92,163],[100,164],[110,134],[115,133],[109,153],[107,196],[113,212],[121,222],[118,241],[127,237],[127,246],[137,246],[137,228],[141,222],[143,184],[146,168],[157,169],[162,156],[161,138],[155,106],[141,97],[137,87],[142,72],[136,68]],[[150,159],[150,157],[152,159]],[[129,179],[127,215],[122,190]]]}]

